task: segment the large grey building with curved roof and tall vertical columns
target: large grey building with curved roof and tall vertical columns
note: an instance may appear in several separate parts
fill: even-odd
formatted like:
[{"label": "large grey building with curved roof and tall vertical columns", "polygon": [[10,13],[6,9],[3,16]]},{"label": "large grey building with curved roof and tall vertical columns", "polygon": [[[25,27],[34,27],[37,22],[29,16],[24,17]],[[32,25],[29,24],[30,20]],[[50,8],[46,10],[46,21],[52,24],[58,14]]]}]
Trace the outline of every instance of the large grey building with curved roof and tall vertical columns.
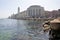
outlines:
[{"label": "large grey building with curved roof and tall vertical columns", "polygon": [[33,18],[44,16],[44,8],[38,5],[33,5],[27,8],[27,15]]}]

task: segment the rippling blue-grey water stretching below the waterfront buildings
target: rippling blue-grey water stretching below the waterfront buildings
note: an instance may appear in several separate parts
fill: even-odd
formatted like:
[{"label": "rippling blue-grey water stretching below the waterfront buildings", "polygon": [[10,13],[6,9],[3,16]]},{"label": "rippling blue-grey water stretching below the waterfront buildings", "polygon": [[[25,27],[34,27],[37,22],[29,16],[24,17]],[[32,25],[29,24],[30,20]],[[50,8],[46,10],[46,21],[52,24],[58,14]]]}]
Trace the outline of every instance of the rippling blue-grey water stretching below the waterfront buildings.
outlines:
[{"label": "rippling blue-grey water stretching below the waterfront buildings", "polygon": [[48,40],[42,29],[42,21],[0,20],[0,40]]}]

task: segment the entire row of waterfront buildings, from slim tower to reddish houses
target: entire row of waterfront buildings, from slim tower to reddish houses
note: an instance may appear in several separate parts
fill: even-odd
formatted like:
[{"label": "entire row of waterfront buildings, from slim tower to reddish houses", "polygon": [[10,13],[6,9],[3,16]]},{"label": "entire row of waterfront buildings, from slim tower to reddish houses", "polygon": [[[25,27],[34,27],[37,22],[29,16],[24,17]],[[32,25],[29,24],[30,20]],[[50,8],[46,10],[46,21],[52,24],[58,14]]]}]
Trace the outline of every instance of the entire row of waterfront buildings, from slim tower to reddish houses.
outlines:
[{"label": "entire row of waterfront buildings, from slim tower to reddish houses", "polygon": [[11,15],[12,19],[28,19],[28,18],[57,18],[60,17],[60,9],[45,11],[43,7],[39,5],[32,5],[20,12],[20,7],[18,7],[17,14]]}]

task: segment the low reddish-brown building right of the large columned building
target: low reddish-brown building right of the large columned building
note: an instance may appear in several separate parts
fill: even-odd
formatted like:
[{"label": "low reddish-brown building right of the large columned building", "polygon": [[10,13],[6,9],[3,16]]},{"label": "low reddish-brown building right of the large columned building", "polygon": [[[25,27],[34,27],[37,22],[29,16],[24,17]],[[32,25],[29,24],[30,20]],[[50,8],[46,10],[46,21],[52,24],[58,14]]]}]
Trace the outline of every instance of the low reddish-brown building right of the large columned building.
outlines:
[{"label": "low reddish-brown building right of the large columned building", "polygon": [[45,17],[46,18],[58,18],[60,17],[60,9],[58,10],[52,10],[52,11],[45,11]]}]

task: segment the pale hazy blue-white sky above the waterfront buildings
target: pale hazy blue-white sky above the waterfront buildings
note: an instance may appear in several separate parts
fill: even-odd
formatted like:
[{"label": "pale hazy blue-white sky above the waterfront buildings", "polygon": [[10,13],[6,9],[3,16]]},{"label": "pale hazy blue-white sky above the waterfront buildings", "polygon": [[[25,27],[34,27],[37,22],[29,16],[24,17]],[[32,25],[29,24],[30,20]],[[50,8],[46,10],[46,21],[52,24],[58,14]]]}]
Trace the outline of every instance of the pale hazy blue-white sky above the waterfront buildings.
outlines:
[{"label": "pale hazy blue-white sky above the waterfront buildings", "polygon": [[60,9],[60,0],[0,0],[0,18],[7,18],[13,13],[26,10],[31,5],[40,5],[45,10],[52,11]]}]

